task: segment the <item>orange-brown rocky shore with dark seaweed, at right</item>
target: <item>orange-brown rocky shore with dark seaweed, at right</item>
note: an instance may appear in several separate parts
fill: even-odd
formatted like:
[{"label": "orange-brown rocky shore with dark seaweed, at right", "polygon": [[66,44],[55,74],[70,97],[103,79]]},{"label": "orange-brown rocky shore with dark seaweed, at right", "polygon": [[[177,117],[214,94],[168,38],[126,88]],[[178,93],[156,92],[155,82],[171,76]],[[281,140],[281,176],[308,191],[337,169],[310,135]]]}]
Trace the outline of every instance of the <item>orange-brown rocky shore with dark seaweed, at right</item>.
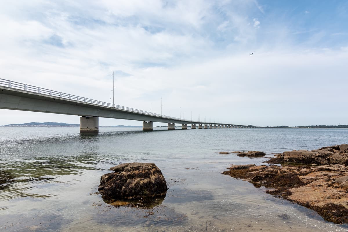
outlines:
[{"label": "orange-brown rocky shore with dark seaweed, at right", "polygon": [[223,174],[315,210],[326,221],[348,223],[348,144],[286,151],[267,161],[279,165],[233,165]]}]

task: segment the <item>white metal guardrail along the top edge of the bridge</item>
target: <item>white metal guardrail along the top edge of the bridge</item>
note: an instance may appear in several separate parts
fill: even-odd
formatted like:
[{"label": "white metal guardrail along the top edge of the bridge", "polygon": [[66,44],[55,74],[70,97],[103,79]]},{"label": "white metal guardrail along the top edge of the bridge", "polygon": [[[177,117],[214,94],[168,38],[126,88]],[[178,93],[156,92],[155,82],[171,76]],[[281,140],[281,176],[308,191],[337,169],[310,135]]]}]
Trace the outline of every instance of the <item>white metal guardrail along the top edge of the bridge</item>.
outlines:
[{"label": "white metal guardrail along the top edge of the bridge", "polygon": [[169,117],[166,115],[156,114],[156,113],[147,112],[147,111],[143,111],[143,110],[137,110],[137,109],[129,108],[126,106],[114,105],[114,104],[107,103],[107,102],[101,102],[101,101],[93,100],[90,98],[66,94],[66,93],[62,93],[62,92],[58,92],[58,91],[54,91],[54,90],[50,90],[50,89],[40,88],[37,86],[27,85],[27,84],[19,83],[16,81],[10,81],[10,80],[5,80],[5,79],[1,79],[1,78],[0,78],[0,86],[6,86],[9,88],[21,89],[21,90],[25,90],[25,91],[29,91],[29,92],[33,92],[33,93],[65,98],[65,99],[74,100],[74,101],[78,101],[78,102],[82,102],[82,103],[90,103],[90,104],[100,105],[100,106],[104,106],[104,107],[111,107],[111,108],[114,108],[117,110],[123,110],[123,111],[127,111],[127,112],[132,112],[132,113],[140,113],[140,114],[146,114],[146,115],[150,115],[150,116],[173,119],[173,120],[180,120],[180,121],[189,121],[189,120],[185,120],[185,119]]}]

